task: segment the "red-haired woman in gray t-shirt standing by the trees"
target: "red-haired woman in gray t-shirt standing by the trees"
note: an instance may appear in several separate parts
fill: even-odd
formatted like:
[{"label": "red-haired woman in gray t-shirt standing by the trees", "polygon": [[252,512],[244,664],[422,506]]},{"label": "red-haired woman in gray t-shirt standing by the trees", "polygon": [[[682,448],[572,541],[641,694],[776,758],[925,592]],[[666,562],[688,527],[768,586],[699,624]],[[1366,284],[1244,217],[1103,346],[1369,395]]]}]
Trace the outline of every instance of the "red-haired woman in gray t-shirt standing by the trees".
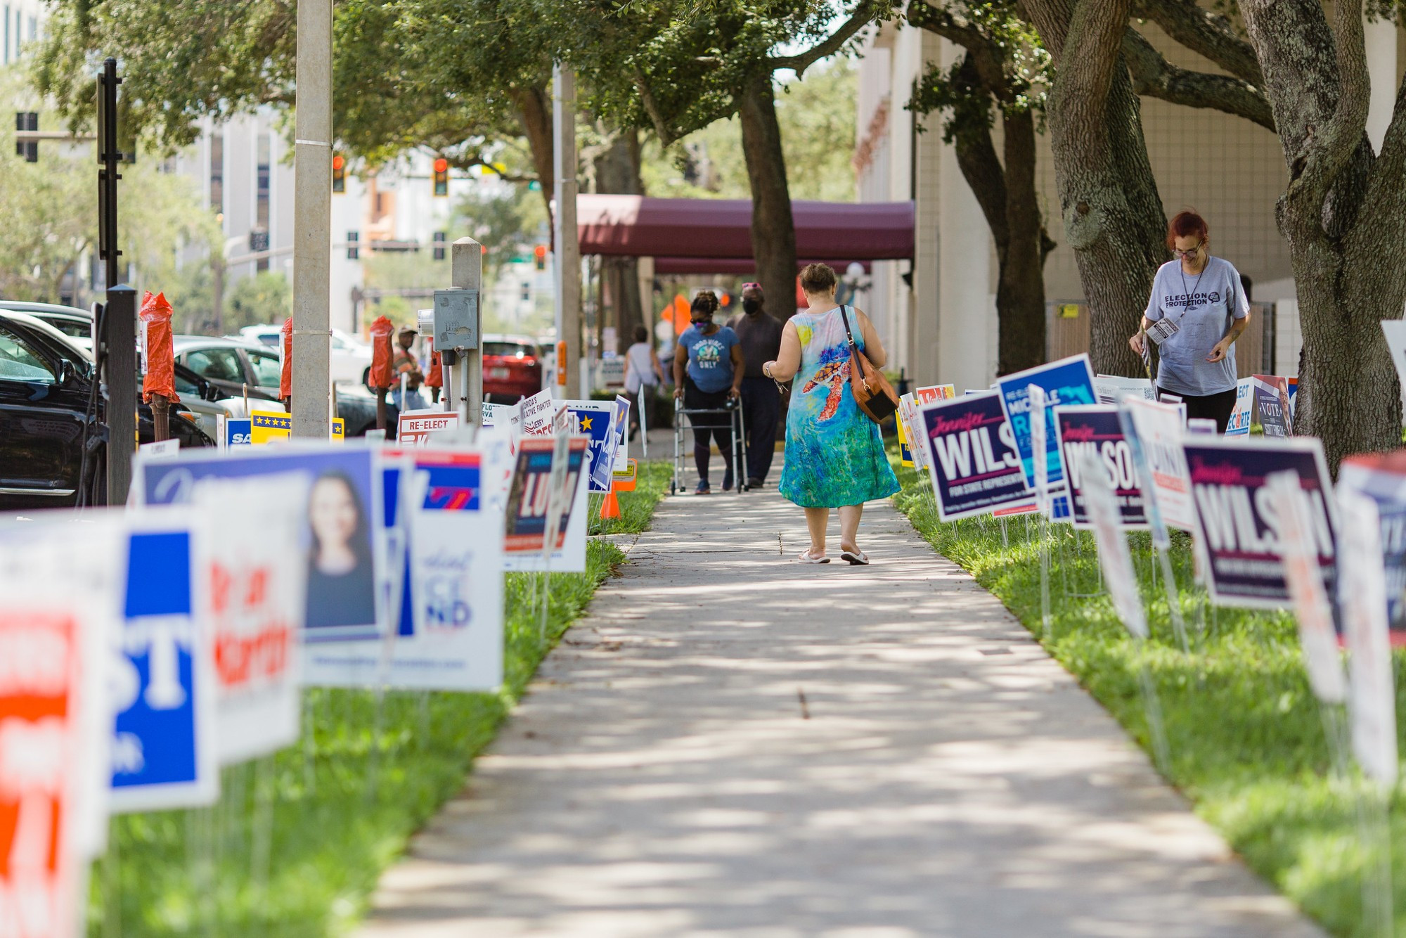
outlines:
[{"label": "red-haired woman in gray t-shirt standing by the trees", "polygon": [[1206,219],[1181,212],[1167,225],[1167,248],[1177,256],[1157,269],[1142,329],[1128,340],[1143,354],[1157,346],[1157,391],[1175,394],[1187,418],[1209,418],[1220,433],[1234,411],[1234,340],[1250,323],[1250,298],[1240,273],[1208,253]]}]

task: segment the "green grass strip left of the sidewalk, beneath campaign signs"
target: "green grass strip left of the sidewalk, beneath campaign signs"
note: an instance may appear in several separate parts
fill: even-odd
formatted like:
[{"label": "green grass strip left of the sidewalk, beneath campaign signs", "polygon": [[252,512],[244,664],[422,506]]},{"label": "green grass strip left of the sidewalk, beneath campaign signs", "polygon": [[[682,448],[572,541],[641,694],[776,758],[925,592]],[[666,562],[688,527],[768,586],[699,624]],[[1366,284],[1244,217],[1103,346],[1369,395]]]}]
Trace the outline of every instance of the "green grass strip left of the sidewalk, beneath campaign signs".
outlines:
[{"label": "green grass strip left of the sidewalk, beneath campaign signs", "polygon": [[[621,530],[644,530],[669,467],[643,464],[620,496]],[[591,540],[585,574],[553,574],[547,641],[538,578],[508,574],[499,693],[309,688],[304,738],[222,773],[221,800],[112,820],[91,870],[89,935],[329,935],[352,930],[409,835],[464,785],[551,645],[624,561]]]}]

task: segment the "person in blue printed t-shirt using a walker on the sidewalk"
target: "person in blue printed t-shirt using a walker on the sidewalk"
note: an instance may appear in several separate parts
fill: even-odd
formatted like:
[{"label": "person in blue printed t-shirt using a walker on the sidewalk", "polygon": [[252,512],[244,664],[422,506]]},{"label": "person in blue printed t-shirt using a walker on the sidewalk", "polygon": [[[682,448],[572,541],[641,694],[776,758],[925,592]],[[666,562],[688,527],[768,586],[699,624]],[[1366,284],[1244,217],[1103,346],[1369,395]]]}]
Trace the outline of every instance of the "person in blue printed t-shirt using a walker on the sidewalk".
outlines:
[{"label": "person in blue printed t-shirt using a walker on the sidewalk", "polygon": [[704,290],[693,297],[688,329],[679,336],[679,347],[673,353],[673,398],[682,399],[690,411],[717,412],[699,413],[695,419],[713,429],[693,430],[693,461],[699,470],[697,495],[711,489],[707,478],[709,456],[713,447],[709,437],[717,440],[717,451],[723,454],[723,491],[733,488],[733,435],[731,413],[723,408],[728,398],[738,397],[742,384],[742,349],[737,333],[713,322],[717,312],[717,294]]}]

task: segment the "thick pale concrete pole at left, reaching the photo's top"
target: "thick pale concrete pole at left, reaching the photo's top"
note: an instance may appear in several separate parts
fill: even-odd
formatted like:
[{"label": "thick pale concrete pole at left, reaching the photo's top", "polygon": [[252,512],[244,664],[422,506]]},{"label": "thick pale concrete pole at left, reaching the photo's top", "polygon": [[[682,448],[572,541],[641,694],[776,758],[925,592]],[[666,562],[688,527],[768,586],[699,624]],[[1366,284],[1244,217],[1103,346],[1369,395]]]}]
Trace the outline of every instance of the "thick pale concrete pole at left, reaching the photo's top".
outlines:
[{"label": "thick pale concrete pole at left, reaching the photo's top", "polygon": [[332,0],[298,3],[292,169],[292,435],[330,437]]}]

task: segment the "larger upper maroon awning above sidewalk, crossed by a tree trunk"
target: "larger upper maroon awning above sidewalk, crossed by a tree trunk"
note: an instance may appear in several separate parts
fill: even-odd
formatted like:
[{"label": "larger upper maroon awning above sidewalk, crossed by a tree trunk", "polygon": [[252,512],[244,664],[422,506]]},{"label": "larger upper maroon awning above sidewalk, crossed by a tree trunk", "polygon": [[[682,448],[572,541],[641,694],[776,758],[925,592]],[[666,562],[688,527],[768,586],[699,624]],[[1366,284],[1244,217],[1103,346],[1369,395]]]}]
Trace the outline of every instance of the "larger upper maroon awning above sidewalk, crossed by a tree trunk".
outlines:
[{"label": "larger upper maroon awning above sidewalk, crossed by a tree trunk", "polygon": [[[827,263],[912,256],[912,203],[793,201],[796,255]],[[752,256],[745,198],[578,195],[582,255],[628,257]]]}]

